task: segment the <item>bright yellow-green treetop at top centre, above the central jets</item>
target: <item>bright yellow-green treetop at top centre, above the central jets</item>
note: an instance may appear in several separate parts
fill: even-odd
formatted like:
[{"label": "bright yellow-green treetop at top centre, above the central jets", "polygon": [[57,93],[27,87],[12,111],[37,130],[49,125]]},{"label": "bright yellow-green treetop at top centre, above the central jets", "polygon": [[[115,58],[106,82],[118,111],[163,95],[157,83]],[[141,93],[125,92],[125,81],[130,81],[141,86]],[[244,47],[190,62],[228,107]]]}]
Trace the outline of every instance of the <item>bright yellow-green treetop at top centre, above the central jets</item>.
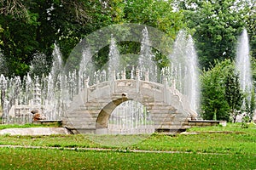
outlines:
[{"label": "bright yellow-green treetop at top centre, above the central jets", "polygon": [[166,32],[173,39],[177,31],[186,28],[183,13],[173,11],[172,1],[126,1],[125,20],[153,26]]}]

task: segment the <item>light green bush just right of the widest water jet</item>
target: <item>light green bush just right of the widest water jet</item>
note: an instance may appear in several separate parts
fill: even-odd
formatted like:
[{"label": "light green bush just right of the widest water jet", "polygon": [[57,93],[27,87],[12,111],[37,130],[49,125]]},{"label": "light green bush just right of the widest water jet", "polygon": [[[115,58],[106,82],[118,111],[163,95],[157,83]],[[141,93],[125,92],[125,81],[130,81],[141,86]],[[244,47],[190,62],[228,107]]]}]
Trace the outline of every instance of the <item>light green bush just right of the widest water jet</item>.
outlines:
[{"label": "light green bush just right of the widest water jet", "polygon": [[226,100],[224,82],[232,70],[232,63],[230,59],[215,62],[215,67],[201,74],[201,116],[212,120],[216,115],[217,120],[229,121],[230,105]]}]

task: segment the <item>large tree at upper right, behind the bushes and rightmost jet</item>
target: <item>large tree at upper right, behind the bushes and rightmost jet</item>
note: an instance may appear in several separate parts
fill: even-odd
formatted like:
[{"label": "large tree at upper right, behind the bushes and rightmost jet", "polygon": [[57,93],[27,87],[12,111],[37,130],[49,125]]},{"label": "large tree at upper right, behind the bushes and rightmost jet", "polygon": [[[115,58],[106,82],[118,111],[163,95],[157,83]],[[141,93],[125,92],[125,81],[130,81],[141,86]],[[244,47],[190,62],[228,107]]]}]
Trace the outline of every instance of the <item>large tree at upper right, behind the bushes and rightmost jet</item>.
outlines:
[{"label": "large tree at upper right, behind the bushes and rightmost jet", "polygon": [[[202,68],[214,65],[214,59],[235,58],[236,38],[241,30],[255,30],[255,14],[249,12],[252,4],[253,1],[236,0],[177,1],[189,28],[195,31],[193,37]],[[255,32],[250,32],[255,36]]]}]

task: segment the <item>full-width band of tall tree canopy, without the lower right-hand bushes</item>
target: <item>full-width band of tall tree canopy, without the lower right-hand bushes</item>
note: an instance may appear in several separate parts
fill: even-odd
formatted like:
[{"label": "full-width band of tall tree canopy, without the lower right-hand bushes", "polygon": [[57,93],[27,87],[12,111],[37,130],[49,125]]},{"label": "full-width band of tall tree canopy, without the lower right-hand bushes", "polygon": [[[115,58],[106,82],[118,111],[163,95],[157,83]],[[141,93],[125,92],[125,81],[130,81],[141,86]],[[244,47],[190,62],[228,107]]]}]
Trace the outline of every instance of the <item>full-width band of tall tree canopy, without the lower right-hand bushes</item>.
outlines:
[{"label": "full-width band of tall tree canopy, without the lower right-hand bushes", "polygon": [[[177,8],[173,8],[173,3]],[[235,57],[236,37],[246,27],[255,58],[253,4],[252,0],[3,1],[0,3],[0,49],[8,70],[1,73],[25,75],[36,54],[45,54],[50,63],[55,42],[60,45],[66,61],[80,39],[99,28],[119,23],[153,26],[173,40],[179,30],[188,30],[194,34],[201,66],[206,68],[214,64],[214,59]],[[123,42],[122,45],[121,54],[127,48],[132,52],[139,48],[137,43]],[[96,63],[104,65],[107,52],[98,54]],[[160,67],[168,65],[166,56],[157,51],[155,54]]]}]

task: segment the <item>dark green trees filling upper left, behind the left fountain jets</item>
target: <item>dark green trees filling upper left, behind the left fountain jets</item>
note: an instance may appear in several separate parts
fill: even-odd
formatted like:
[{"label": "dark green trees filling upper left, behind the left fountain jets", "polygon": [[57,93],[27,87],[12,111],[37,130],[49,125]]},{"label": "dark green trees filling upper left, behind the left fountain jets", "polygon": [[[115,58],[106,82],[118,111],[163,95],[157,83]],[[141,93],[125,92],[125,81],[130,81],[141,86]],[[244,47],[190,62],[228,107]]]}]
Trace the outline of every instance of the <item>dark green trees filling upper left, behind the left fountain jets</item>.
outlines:
[{"label": "dark green trees filling upper left, behind the left fountain jets", "polygon": [[55,42],[67,59],[82,37],[110,23],[102,3],[92,0],[7,0],[0,1],[0,13],[7,76],[25,75],[37,54],[45,54],[50,64]]}]

